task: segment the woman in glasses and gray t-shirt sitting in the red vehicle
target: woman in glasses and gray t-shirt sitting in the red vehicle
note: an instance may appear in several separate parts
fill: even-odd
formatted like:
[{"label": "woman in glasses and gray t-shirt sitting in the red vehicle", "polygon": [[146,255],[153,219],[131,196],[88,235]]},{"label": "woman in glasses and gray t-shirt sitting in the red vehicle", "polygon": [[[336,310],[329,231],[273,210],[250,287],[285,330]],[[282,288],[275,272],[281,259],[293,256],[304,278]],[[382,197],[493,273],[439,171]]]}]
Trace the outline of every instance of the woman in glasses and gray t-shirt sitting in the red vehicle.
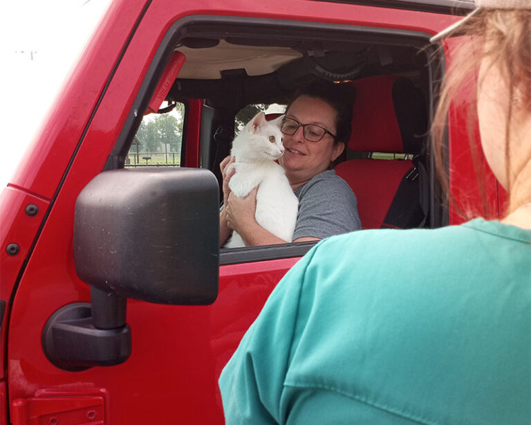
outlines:
[{"label": "woman in glasses and gray t-shirt sitting in the red vehicle", "polygon": [[[353,191],[330,170],[351,135],[352,97],[336,84],[321,82],[301,89],[286,108],[281,127],[286,151],[279,163],[299,199],[293,242],[315,241],[361,228]],[[234,159],[227,156],[221,163],[223,176],[230,161]],[[223,180],[220,245],[232,230],[241,235],[246,246],[289,242],[254,219],[256,189],[245,198],[232,195],[228,187],[232,174]]]}]

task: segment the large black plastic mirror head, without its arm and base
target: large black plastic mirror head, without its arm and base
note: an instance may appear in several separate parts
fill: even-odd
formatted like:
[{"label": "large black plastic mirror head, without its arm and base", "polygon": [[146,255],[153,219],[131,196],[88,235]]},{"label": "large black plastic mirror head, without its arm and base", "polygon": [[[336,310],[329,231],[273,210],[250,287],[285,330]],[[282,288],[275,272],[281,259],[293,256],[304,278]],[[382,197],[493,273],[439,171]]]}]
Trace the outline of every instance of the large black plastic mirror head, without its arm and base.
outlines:
[{"label": "large black plastic mirror head, without its arm and base", "polygon": [[84,282],[122,298],[208,305],[218,293],[218,182],[196,168],[98,174],[75,204]]}]

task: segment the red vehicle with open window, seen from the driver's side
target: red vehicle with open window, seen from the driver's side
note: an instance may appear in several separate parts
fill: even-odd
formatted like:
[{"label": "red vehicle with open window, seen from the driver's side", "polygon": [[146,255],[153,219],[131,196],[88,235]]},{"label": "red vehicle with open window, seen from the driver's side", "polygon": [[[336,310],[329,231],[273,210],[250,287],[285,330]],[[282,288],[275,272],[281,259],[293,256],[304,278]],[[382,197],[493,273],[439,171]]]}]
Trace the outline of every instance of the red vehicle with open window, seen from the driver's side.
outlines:
[{"label": "red vehicle with open window, seen from the driver's side", "polygon": [[[0,424],[223,422],[217,389],[223,365],[274,285],[313,244],[214,252],[219,198],[211,174],[189,170],[167,184],[151,176],[175,171],[118,171],[127,179],[115,186],[107,176],[117,172],[102,172],[178,163],[211,170],[219,180],[218,163],[230,150],[234,127],[256,108],[249,105],[285,104],[296,87],[318,78],[346,89],[355,85],[357,114],[373,119],[371,125],[368,119],[355,120],[355,134],[363,134],[364,143],[348,152],[340,167],[357,185],[362,224],[430,228],[462,221],[441,194],[426,133],[454,44],[437,50],[427,40],[456,19],[452,11],[466,12],[469,6],[449,0],[113,2],[36,138],[32,161],[20,165],[1,195]],[[407,89],[395,98],[397,81]],[[387,95],[377,93],[382,87]],[[162,100],[168,108],[180,102],[174,108],[181,111],[175,119],[182,120],[182,129],[171,127],[173,138],[166,143],[158,127],[159,139],[148,149],[142,145],[147,127],[158,118],[145,113],[164,114]],[[448,123],[450,189],[463,209],[482,204],[466,136],[469,106],[463,93]],[[404,143],[403,122],[409,123],[413,145]],[[377,131],[382,137],[398,132],[402,145],[375,143]],[[179,136],[180,145],[171,143]],[[354,178],[355,170],[363,172]],[[100,183],[91,183],[97,188],[89,186],[88,192],[103,199],[100,206],[80,201],[75,213],[80,192],[96,176]],[[488,170],[484,176],[487,208],[495,216],[503,208],[503,192]],[[195,181],[204,184],[196,187]],[[115,187],[120,190],[113,192]],[[174,209],[161,212],[145,202],[153,194],[160,201],[169,192]],[[109,206],[114,209],[102,212]],[[138,210],[142,220],[126,222],[117,208]],[[410,214],[400,221],[404,210]],[[80,216],[83,211],[88,213]],[[380,219],[364,221],[375,215]],[[111,223],[112,217],[123,220]],[[99,225],[118,229],[114,239],[99,233]],[[175,237],[168,239],[171,244],[180,244],[177,251],[154,244],[167,242],[167,235]],[[102,246],[111,255],[91,251]],[[355,259],[355,253],[346,255]],[[107,262],[109,257],[115,262]],[[190,267],[178,275],[183,264]],[[413,258],[411,264],[412,273],[422,266]],[[197,277],[194,270],[196,275],[209,271],[208,281],[189,284]],[[129,298],[127,314],[123,301],[106,305],[107,275],[133,275],[131,282],[147,276],[140,289],[112,288]],[[153,275],[173,282],[173,298],[153,289]],[[203,298],[197,298],[198,288],[205,291]],[[88,327],[101,319],[100,330],[123,332],[115,332],[121,335],[116,356],[113,349],[106,351],[113,343],[102,343],[107,348],[99,351],[98,332],[89,343],[69,339],[71,334],[61,347],[48,341],[50,318],[59,309],[90,301],[92,318],[83,316],[86,305],[81,310],[74,305],[75,311],[82,311]],[[130,353],[121,351],[129,337]]]}]

